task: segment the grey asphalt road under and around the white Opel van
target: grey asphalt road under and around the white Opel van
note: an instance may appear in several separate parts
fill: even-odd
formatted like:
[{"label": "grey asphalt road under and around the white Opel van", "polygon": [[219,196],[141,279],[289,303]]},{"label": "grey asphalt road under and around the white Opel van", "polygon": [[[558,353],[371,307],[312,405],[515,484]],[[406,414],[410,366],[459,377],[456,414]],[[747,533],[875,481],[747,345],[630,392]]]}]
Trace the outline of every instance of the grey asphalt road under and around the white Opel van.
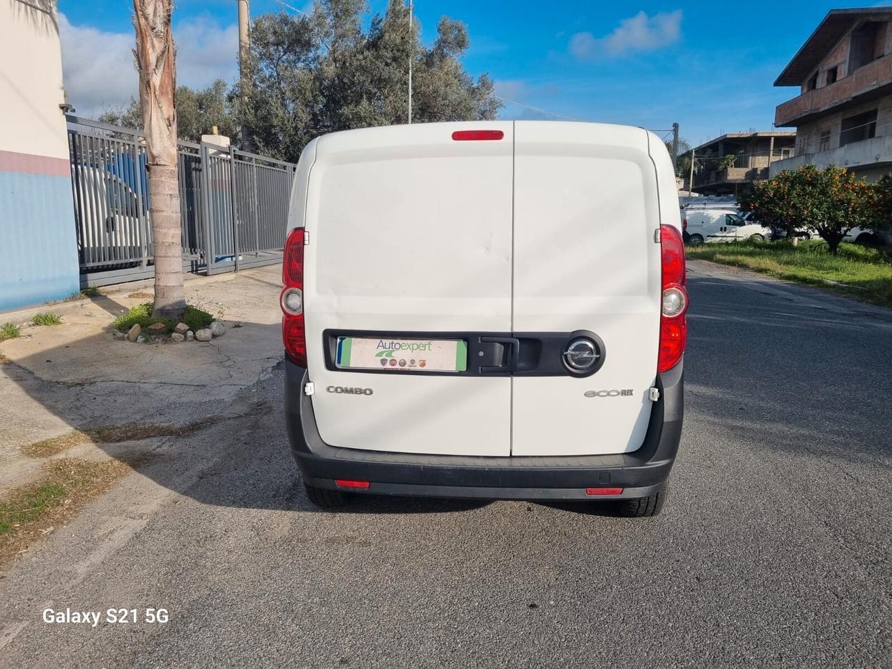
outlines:
[{"label": "grey asphalt road under and around the white Opel van", "polygon": [[[0,580],[0,664],[892,666],[892,313],[704,263],[690,293],[662,516],[319,512],[277,369],[244,418],[165,442]],[[169,622],[45,624],[46,607]]]}]

